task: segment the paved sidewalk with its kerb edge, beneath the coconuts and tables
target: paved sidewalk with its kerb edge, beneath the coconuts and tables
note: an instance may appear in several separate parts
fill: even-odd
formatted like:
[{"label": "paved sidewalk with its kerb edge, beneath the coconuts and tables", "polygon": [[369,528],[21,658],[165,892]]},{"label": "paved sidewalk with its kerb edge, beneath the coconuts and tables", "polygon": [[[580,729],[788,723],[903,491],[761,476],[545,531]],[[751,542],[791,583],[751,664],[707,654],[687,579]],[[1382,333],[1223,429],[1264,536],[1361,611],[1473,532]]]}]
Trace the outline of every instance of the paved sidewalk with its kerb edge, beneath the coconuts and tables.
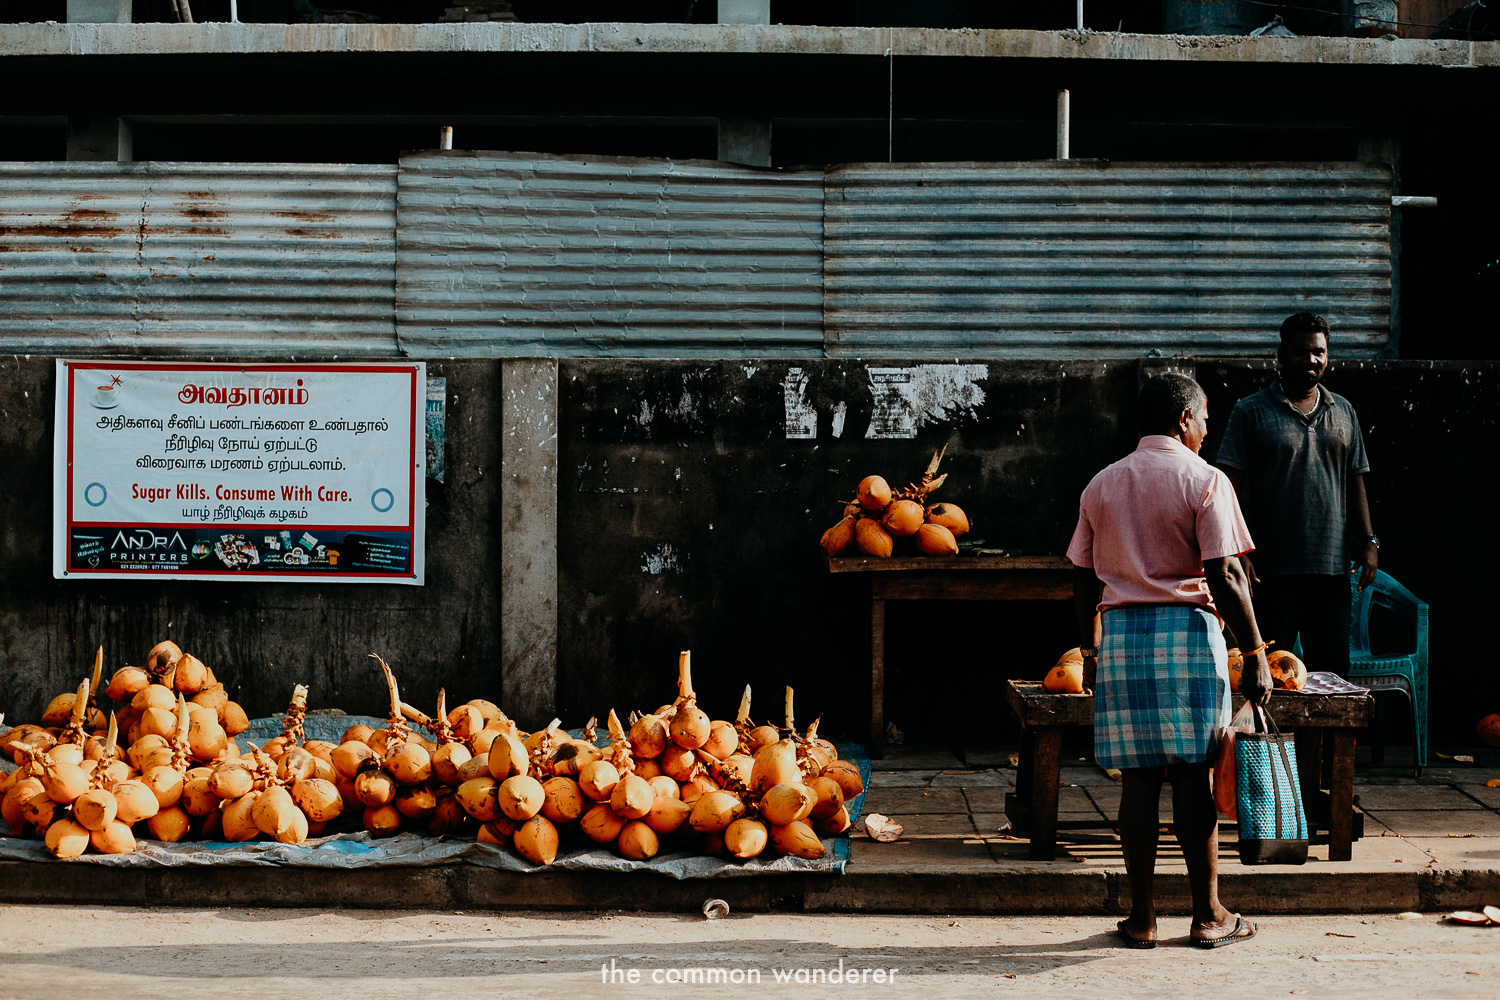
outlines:
[{"label": "paved sidewalk with its kerb edge, beneath the coconuts and tables", "polygon": [[[1392,757],[1400,754],[1392,751]],[[1306,865],[1244,867],[1234,831],[1221,828],[1222,894],[1230,906],[1263,915],[1395,913],[1500,906],[1500,751],[1460,765],[1436,760],[1420,780],[1410,766],[1356,769],[1365,816],[1353,859],[1329,862],[1314,844]],[[896,816],[906,837],[878,844],[855,835],[843,876],[748,874],[675,880],[638,874],[502,873],[468,865],[354,870],[338,877],[300,868],[150,868],[0,862],[0,900],[18,904],[177,904],[417,907],[452,910],[640,909],[692,913],[706,895],[735,909],[782,913],[906,915],[1118,915],[1130,906],[1125,865],[1110,816],[1119,786],[1074,757],[1062,772],[1062,817],[1088,820],[1068,831],[1056,861],[1030,861],[1028,844],[1004,832],[1004,799],[1016,771],[1004,748],[904,747],[874,763],[867,811]],[[1170,820],[1164,802],[1162,820]],[[1180,855],[1162,841],[1158,897],[1185,913]],[[0,939],[4,940],[4,939]]]}]

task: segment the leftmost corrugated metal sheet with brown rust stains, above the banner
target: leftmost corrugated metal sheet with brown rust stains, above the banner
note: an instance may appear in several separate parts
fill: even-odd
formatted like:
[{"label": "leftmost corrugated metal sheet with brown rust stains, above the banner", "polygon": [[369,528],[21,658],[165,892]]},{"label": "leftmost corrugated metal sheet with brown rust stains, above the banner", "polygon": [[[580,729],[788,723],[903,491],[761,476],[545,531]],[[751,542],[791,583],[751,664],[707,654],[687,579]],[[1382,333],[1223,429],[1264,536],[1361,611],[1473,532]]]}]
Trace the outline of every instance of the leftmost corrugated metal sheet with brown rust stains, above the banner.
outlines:
[{"label": "leftmost corrugated metal sheet with brown rust stains, above the banner", "polygon": [[396,168],[0,163],[0,349],[394,354]]}]

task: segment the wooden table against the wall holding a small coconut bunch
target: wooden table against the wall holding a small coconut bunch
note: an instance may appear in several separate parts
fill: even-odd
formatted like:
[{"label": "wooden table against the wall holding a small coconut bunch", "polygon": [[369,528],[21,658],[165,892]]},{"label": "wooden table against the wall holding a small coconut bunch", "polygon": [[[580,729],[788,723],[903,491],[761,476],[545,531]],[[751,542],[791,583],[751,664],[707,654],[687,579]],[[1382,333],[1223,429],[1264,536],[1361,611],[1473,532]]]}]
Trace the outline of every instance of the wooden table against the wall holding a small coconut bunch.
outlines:
[{"label": "wooden table against the wall holding a small coconut bunch", "polygon": [[830,573],[870,582],[870,754],[885,753],[886,601],[1071,601],[1072,564],[1062,556],[920,556],[828,559]]}]

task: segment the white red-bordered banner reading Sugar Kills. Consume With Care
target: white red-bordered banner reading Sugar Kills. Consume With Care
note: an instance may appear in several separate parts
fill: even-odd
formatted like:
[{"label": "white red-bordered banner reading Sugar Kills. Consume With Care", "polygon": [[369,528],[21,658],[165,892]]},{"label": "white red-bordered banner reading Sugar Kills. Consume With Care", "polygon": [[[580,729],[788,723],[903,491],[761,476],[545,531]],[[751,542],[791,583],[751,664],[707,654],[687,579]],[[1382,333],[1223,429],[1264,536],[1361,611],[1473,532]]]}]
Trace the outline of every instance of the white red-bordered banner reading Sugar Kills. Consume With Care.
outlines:
[{"label": "white red-bordered banner reading Sugar Kills. Consume With Care", "polygon": [[422,583],[426,366],[57,363],[57,579]]}]

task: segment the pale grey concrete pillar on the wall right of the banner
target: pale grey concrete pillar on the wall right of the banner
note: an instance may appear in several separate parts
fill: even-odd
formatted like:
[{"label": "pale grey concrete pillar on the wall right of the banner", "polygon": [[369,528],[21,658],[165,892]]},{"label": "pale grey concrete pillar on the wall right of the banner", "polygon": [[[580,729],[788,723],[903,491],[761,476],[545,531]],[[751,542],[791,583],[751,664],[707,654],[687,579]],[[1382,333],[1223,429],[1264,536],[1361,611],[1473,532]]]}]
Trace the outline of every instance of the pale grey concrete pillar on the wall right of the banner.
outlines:
[{"label": "pale grey concrete pillar on the wall right of the banner", "polygon": [[558,363],[501,364],[501,705],[546,726],[558,688]]}]

